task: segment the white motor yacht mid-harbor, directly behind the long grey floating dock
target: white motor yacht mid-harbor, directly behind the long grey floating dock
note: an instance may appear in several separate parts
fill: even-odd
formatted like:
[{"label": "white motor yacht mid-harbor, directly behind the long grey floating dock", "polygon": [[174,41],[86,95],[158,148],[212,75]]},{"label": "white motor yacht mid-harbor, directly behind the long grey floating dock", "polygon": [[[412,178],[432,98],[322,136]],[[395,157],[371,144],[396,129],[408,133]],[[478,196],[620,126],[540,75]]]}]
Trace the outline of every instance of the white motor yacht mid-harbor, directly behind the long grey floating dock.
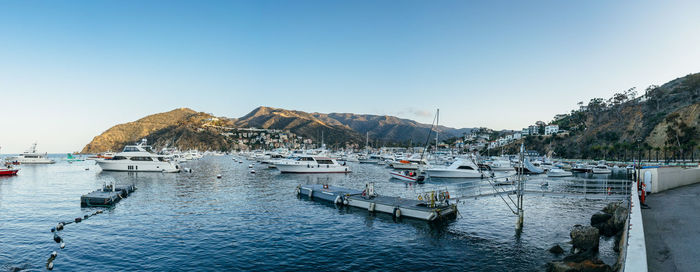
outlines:
[{"label": "white motor yacht mid-harbor, directly behind the long grey floating dock", "polygon": [[299,156],[275,164],[282,173],[349,173],[350,168],[328,157]]}]

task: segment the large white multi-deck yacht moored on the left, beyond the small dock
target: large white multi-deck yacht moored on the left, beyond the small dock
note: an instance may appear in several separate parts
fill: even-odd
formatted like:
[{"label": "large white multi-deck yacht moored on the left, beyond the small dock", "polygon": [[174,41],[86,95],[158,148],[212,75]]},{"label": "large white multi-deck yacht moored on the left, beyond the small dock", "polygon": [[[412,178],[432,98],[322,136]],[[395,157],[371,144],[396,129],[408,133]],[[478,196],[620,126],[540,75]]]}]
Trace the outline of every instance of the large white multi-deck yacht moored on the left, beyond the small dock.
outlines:
[{"label": "large white multi-deck yacht moored on the left, beyond the small dock", "polygon": [[149,146],[143,140],[137,145],[127,145],[122,152],[111,159],[95,160],[104,171],[126,172],[180,172],[180,165],[168,160],[166,155],[157,155],[150,152]]}]

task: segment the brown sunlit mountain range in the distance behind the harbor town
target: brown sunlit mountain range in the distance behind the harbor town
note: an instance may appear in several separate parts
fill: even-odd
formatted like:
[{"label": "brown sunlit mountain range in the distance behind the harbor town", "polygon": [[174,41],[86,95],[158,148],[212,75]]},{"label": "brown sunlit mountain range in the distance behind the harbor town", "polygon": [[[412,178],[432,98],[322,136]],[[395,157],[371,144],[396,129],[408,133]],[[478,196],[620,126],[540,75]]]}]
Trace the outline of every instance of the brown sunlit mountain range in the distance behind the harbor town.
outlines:
[{"label": "brown sunlit mountain range in the distance behind the harbor town", "polygon": [[[143,138],[159,148],[170,146],[181,150],[230,150],[239,147],[232,139],[223,136],[221,131],[205,125],[212,118],[214,116],[211,114],[187,108],[149,115],[108,129],[87,144],[81,153],[119,151],[125,145]],[[393,116],[307,113],[262,106],[238,119],[217,119],[219,126],[288,130],[313,139],[316,143],[323,137],[330,147],[347,144],[364,146],[367,132],[373,146],[407,144],[411,141],[414,145],[420,145],[426,140],[430,129],[429,124]],[[470,130],[440,126],[440,138],[461,136]]]}]

